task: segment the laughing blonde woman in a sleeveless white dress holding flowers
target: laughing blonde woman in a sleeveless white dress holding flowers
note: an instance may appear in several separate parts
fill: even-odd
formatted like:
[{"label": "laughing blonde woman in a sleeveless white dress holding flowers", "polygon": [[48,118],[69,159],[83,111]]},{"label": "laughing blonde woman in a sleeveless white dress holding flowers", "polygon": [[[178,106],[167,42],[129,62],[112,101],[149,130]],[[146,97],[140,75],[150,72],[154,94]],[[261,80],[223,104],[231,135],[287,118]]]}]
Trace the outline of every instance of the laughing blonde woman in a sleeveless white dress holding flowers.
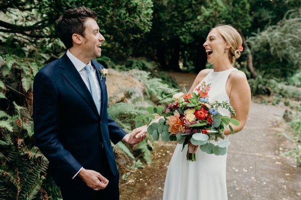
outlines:
[{"label": "laughing blonde woman in a sleeveless white dress holding flowers", "polygon": [[[245,125],[251,102],[246,75],[233,67],[235,59],[241,54],[241,45],[241,36],[232,26],[218,25],[211,29],[203,46],[213,69],[201,70],[189,90],[189,93],[194,92],[202,81],[211,83],[209,101],[230,102],[236,116],[231,116],[223,108],[219,112],[239,121],[238,126],[231,124],[235,132],[239,132]],[[139,130],[141,133],[146,132],[145,127],[140,127]],[[231,134],[229,127],[225,128],[224,134],[225,139],[228,139],[228,134]],[[210,142],[217,145],[216,141]],[[187,161],[187,147],[190,152],[197,151],[196,161]],[[181,150],[182,144],[178,144],[167,171],[163,200],[227,199],[227,154],[207,154],[191,143]]]}]

